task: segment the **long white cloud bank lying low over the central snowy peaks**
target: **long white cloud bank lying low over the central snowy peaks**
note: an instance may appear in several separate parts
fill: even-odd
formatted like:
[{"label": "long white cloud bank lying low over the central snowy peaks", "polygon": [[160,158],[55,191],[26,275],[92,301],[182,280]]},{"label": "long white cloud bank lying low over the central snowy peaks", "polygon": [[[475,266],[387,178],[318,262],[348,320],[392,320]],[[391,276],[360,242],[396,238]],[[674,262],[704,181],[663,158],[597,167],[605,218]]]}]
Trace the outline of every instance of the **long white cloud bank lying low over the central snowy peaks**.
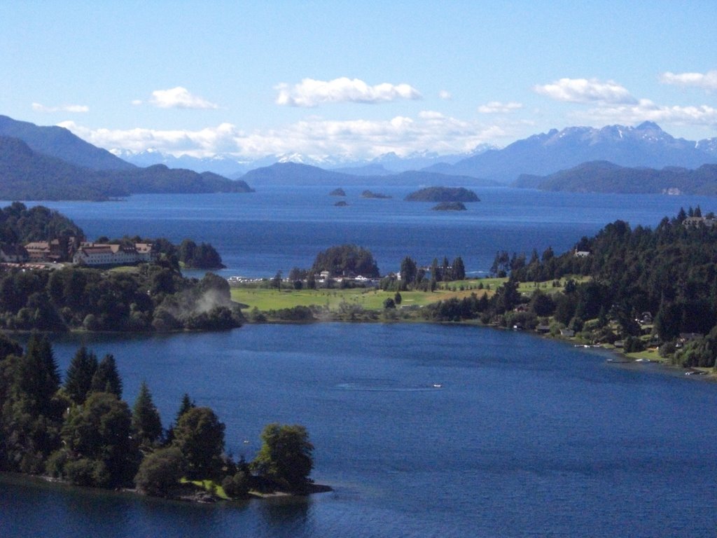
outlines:
[{"label": "long white cloud bank lying low over the central snowy peaks", "polygon": [[281,128],[253,132],[242,131],[229,123],[199,131],[90,129],[72,121],[60,126],[106,149],[145,151],[155,148],[175,156],[225,154],[239,159],[294,153],[356,159],[389,151],[399,155],[426,150],[450,154],[470,151],[480,143],[494,142],[497,138],[516,136],[521,128],[511,124],[461,121],[433,111],[424,111],[415,118],[396,116],[380,121],[334,121],[312,117]]}]

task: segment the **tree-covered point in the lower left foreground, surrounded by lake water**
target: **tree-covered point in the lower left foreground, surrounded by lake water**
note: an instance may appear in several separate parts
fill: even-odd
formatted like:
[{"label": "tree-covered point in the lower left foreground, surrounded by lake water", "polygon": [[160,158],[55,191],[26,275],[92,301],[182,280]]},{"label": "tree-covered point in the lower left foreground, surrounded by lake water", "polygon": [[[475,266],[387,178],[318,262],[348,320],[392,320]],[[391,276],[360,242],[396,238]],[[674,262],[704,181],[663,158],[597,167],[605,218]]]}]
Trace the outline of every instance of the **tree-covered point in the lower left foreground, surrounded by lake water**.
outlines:
[{"label": "tree-covered point in the lower left foreground, surrounded by lake water", "polygon": [[145,383],[133,407],[122,392],[111,354],[98,361],[80,347],[63,383],[47,338],[33,334],[23,350],[0,334],[0,471],[187,499],[198,495],[191,481],[212,481],[217,494],[221,485],[228,498],[310,488],[313,445],[303,426],[267,425],[255,460],[235,462],[209,407],[184,395],[164,430]]}]

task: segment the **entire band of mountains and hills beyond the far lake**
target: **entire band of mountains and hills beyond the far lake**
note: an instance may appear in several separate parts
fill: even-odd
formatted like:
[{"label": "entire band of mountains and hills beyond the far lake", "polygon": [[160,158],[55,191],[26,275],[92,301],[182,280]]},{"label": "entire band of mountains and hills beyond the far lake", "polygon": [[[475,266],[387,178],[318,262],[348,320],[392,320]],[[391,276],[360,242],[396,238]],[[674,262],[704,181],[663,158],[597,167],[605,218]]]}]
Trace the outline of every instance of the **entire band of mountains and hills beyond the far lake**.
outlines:
[{"label": "entire band of mountains and hills beyond the far lake", "polygon": [[[585,179],[589,174],[598,180],[597,186],[590,188],[599,192],[612,184],[609,187],[615,189],[612,192],[621,192],[620,189],[661,192],[675,187],[679,192],[706,194],[711,189],[706,187],[711,169],[703,169],[699,174],[687,171],[717,164],[717,138],[701,141],[674,138],[651,122],[636,127],[553,129],[502,149],[481,145],[469,154],[440,156],[425,151],[402,157],[389,153],[370,161],[346,156],[308,158],[299,154],[237,161],[234,156],[196,159],[158,151],[110,152],[92,146],[65,128],[35,126],[3,115],[0,115],[0,139],[0,197],[5,199],[106,199],[140,192],[247,192],[251,190],[249,184],[476,187],[513,184],[519,177],[518,184],[523,186],[540,184],[541,188],[554,189],[561,184],[566,189],[578,189],[573,180],[565,178]],[[120,156],[132,159],[134,164]],[[594,164],[598,161],[603,162]],[[316,163],[321,166],[314,166]],[[612,166],[622,169],[617,171]],[[224,176],[217,174],[218,170]],[[541,179],[561,171],[566,173]],[[659,181],[655,179],[656,171],[660,171]],[[241,181],[237,181],[239,178]],[[696,186],[690,189],[692,180],[698,181],[701,190],[695,190]],[[640,187],[636,181],[645,185]],[[670,185],[664,187],[666,184]]]}]

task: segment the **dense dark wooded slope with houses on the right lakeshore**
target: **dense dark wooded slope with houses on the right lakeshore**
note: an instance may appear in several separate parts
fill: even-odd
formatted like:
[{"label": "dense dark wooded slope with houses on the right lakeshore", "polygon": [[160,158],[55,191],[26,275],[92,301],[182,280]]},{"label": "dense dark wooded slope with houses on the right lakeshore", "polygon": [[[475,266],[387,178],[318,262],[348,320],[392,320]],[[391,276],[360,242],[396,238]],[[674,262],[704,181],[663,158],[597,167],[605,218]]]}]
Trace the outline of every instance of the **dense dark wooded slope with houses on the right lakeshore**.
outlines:
[{"label": "dense dark wooded slope with houses on the right lakeshore", "polygon": [[[440,301],[424,316],[435,321],[480,318],[486,324],[566,328],[584,341],[619,341],[626,351],[660,345],[685,367],[713,367],[717,358],[717,226],[712,214],[681,209],[655,229],[616,221],[574,250],[556,255],[499,252],[493,272],[508,281],[488,296]],[[564,282],[558,293],[539,283]],[[533,282],[531,297],[519,282]]]}]

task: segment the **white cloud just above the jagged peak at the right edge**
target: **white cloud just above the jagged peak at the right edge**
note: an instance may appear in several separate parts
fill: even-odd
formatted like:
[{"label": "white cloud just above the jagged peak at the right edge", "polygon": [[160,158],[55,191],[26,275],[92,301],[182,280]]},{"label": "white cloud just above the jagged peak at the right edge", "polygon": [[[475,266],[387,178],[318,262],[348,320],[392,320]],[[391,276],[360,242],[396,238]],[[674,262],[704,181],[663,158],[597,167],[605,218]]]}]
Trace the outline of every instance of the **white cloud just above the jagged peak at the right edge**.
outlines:
[{"label": "white cloud just above the jagged peak at the right edge", "polygon": [[629,125],[641,121],[672,123],[673,125],[717,127],[717,109],[708,105],[662,106],[649,99],[640,99],[634,105],[594,108],[581,114],[593,121]]}]

